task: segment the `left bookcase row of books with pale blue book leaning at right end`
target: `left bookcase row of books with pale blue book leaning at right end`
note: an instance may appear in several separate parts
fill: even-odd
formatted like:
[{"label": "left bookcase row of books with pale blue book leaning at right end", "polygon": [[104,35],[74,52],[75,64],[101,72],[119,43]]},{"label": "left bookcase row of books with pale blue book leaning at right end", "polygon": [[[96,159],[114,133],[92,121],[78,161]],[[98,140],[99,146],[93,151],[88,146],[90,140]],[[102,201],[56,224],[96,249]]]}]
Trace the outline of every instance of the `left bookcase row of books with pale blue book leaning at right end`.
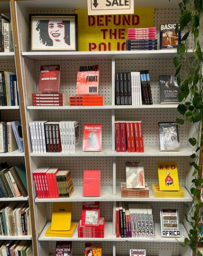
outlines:
[{"label": "left bookcase row of books with pale blue book leaning at right end", "polygon": [[0,153],[24,152],[21,121],[0,122]]}]

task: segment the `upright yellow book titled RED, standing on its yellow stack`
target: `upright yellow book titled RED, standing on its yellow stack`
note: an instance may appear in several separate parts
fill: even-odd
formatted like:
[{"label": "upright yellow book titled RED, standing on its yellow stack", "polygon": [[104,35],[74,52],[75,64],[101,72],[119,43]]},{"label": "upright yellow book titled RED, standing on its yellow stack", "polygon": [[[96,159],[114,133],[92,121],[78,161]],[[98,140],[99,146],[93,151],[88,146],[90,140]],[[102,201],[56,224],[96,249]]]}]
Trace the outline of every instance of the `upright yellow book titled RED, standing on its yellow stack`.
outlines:
[{"label": "upright yellow book titled RED, standing on its yellow stack", "polygon": [[179,191],[176,162],[159,162],[157,165],[160,191]]}]

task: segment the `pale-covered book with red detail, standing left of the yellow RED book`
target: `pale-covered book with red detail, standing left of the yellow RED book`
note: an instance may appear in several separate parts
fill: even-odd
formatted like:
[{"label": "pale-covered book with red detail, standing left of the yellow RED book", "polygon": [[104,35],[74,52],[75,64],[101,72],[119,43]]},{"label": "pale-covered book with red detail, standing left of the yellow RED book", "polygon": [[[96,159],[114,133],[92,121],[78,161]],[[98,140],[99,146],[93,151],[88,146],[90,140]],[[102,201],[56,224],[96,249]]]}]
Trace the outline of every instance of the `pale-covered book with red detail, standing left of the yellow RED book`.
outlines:
[{"label": "pale-covered book with red detail, standing left of the yellow RED book", "polygon": [[145,188],[144,167],[139,162],[126,162],[126,187]]}]

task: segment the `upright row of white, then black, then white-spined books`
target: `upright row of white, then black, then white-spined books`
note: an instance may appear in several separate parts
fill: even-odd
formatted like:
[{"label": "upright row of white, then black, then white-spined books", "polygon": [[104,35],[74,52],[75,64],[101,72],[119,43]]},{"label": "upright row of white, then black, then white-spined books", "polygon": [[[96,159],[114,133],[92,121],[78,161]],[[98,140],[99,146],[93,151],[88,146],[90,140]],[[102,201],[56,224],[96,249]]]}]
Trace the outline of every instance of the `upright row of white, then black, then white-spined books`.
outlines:
[{"label": "upright row of white, then black, then white-spined books", "polygon": [[29,126],[33,153],[75,153],[80,146],[77,121],[33,121]]}]

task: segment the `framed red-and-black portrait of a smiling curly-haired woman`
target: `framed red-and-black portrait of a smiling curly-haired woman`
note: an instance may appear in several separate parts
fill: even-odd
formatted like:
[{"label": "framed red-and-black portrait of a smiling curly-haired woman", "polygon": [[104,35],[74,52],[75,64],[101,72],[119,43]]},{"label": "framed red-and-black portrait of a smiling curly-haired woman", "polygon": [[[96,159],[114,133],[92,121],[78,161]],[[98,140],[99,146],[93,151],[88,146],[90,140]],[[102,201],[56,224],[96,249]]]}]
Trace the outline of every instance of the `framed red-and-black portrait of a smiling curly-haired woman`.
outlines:
[{"label": "framed red-and-black portrait of a smiling curly-haired woman", "polygon": [[77,14],[30,14],[30,51],[78,51]]}]

